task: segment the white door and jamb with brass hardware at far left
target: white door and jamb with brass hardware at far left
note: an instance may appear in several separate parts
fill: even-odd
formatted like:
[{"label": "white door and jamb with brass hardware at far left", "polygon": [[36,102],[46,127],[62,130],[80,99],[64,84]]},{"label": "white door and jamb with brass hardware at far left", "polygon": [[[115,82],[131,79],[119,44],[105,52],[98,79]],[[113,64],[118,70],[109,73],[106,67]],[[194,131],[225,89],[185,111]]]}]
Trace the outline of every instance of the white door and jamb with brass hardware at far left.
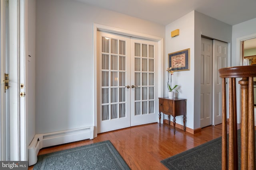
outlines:
[{"label": "white door and jamb with brass hardware at far left", "polygon": [[1,160],[23,161],[27,157],[26,112],[19,87],[25,83],[25,1],[1,1],[0,6]]}]

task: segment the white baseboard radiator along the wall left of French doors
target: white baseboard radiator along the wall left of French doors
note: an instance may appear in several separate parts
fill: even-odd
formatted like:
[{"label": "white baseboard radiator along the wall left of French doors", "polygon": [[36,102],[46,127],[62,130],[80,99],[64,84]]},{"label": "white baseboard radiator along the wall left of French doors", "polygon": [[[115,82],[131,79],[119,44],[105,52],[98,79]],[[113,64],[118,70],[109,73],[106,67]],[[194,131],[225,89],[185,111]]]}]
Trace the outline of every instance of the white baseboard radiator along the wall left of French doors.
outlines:
[{"label": "white baseboard radiator along the wall left of French doors", "polygon": [[31,166],[36,164],[37,154],[42,148],[93,138],[93,126],[67,131],[37,134],[28,146],[28,165]]}]

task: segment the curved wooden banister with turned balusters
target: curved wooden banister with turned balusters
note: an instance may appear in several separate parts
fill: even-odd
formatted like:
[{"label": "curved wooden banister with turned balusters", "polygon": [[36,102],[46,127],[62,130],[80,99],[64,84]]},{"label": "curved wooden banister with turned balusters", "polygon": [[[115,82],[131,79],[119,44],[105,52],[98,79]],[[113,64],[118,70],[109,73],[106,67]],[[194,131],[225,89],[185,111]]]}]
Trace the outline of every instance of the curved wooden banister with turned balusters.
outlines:
[{"label": "curved wooden banister with turned balusters", "polygon": [[[253,77],[256,65],[219,69],[222,79],[222,170],[238,169],[236,78],[241,87],[241,170],[255,170]],[[226,78],[229,80],[229,140],[227,152]],[[228,154],[228,156],[227,156]],[[227,160],[228,157],[228,160]]]}]

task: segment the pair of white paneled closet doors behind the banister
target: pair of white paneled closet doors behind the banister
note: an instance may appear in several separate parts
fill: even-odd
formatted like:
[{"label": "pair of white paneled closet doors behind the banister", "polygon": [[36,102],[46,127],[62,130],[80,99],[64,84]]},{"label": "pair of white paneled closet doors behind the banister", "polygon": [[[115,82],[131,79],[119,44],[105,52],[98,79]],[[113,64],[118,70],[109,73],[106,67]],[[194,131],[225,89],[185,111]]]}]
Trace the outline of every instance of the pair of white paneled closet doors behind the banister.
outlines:
[{"label": "pair of white paneled closet doors behind the banister", "polygon": [[222,123],[222,81],[218,70],[227,67],[228,43],[201,40],[201,127]]}]

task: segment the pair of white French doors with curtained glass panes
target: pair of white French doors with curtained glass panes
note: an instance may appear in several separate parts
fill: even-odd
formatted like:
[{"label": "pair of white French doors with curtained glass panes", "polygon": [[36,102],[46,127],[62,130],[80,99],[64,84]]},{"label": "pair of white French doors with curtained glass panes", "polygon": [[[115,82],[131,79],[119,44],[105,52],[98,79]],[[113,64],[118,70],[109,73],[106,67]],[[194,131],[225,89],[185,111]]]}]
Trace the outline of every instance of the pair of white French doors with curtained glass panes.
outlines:
[{"label": "pair of white French doors with curtained glass panes", "polygon": [[156,122],[154,41],[97,31],[97,131]]}]

